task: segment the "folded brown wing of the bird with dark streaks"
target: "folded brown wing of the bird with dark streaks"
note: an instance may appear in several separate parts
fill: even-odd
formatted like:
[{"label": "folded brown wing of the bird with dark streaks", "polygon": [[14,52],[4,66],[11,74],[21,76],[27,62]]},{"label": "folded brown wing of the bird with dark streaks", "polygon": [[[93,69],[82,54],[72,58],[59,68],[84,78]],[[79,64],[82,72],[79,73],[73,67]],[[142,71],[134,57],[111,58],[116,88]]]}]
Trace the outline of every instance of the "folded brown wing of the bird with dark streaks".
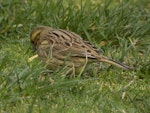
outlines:
[{"label": "folded brown wing of the bird with dark streaks", "polygon": [[98,55],[98,49],[73,32],[53,29],[49,30],[45,37],[48,37],[49,41],[52,42],[55,55],[67,56],[70,54],[71,57],[88,57],[91,59],[95,59]]}]

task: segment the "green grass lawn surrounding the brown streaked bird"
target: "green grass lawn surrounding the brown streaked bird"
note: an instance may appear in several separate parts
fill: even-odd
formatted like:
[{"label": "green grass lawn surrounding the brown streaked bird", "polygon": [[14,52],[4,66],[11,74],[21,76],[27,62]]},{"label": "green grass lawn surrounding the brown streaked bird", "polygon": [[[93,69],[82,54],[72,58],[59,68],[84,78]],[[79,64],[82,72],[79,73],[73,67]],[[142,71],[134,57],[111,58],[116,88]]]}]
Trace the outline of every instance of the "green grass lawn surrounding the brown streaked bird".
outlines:
[{"label": "green grass lawn surrounding the brown streaked bird", "polygon": [[[61,77],[33,56],[29,34],[37,25],[80,34],[104,55],[136,67],[102,64],[87,78]],[[1,113],[148,113],[150,111],[149,0],[0,0]]]}]

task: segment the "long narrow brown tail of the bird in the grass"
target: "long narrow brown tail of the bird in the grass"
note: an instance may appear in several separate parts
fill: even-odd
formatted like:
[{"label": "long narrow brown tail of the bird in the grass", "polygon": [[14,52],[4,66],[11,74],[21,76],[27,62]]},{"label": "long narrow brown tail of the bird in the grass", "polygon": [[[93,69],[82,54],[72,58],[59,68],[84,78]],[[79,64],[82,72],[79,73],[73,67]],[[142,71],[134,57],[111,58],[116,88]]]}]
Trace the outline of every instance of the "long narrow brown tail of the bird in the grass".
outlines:
[{"label": "long narrow brown tail of the bird in the grass", "polygon": [[107,57],[104,57],[104,56],[103,57],[99,57],[98,61],[106,62],[106,63],[112,64],[112,65],[118,66],[120,68],[123,68],[123,69],[135,70],[133,67],[127,66],[127,65],[125,65],[123,63],[120,63],[118,61],[114,61],[113,59],[110,59],[110,58],[107,58]]}]

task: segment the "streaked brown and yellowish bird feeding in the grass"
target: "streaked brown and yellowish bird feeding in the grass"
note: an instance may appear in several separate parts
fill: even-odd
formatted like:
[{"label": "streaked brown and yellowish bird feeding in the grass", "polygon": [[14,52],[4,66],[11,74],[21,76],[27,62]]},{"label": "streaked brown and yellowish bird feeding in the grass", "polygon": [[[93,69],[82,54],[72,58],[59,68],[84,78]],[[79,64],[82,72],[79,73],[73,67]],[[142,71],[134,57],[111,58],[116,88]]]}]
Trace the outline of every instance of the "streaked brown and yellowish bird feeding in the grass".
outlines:
[{"label": "streaked brown and yellowish bird feeding in the grass", "polygon": [[133,70],[124,63],[115,61],[97,49],[80,35],[49,26],[38,26],[30,34],[30,42],[38,57],[50,70],[66,66],[68,74],[81,74],[91,63],[109,63],[125,70]]}]

